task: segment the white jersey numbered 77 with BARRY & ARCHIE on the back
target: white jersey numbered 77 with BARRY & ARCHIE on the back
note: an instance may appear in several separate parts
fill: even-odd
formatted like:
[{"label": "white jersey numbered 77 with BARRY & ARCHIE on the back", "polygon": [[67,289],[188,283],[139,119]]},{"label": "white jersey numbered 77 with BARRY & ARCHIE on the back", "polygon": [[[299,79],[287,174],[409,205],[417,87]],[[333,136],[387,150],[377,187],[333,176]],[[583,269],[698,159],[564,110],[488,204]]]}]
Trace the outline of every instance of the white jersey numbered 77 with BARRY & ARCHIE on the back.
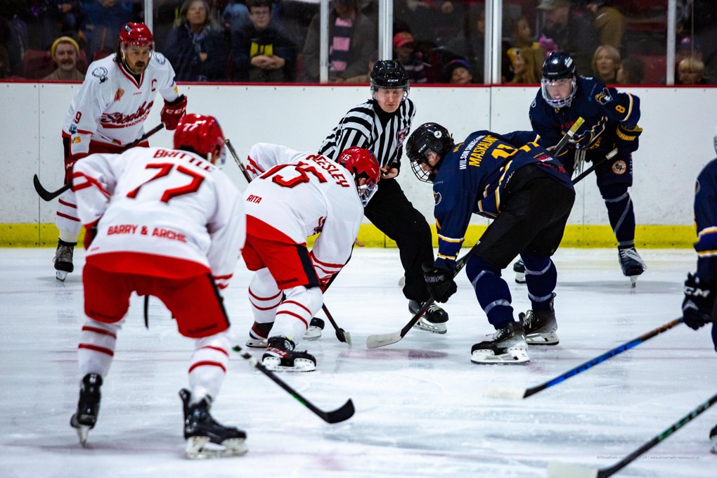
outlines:
[{"label": "white jersey numbered 77 with BARRY & ARCHIE on the back", "polygon": [[98,153],[77,161],[72,189],[82,224],[99,219],[88,257],[140,252],[184,259],[206,266],[226,287],[245,227],[239,191],[217,166],[183,150]]}]

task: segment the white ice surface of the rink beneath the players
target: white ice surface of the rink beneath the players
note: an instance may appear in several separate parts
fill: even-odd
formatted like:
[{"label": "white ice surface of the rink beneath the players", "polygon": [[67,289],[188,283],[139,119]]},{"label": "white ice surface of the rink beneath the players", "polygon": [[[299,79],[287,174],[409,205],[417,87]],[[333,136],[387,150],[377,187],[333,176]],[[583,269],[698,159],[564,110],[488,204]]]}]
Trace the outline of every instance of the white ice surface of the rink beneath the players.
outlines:
[{"label": "white ice surface of the rink beneath the players", "polygon": [[[400,330],[410,317],[397,249],[356,249],[326,294],[353,347],[336,340],[327,320],[323,338],[303,343],[318,370],[281,376],[326,410],[352,398],[356,415],[326,424],[234,355],[212,411],[247,431],[250,451],[190,462],[177,391],[192,345],[163,305],[151,301],[146,330],[133,297],[83,449],[68,422],[77,404],[84,254],[75,253],[75,273],[63,284],[51,249],[0,249],[0,477],[527,478],[546,477],[551,460],[608,467],[717,391],[707,328],[679,325],[523,401],[484,393],[537,385],[678,317],[694,252],[640,252],[649,269],[632,290],[614,249],[559,250],[560,344],[531,347],[528,365],[501,366],[470,363],[470,346],[492,328],[464,274],[445,305],[446,335],[412,330],[367,350],[368,335]],[[505,277],[517,315],[528,308],[526,289],[512,271]],[[242,345],[252,323],[249,279],[240,264],[224,294]],[[618,476],[717,477],[717,455],[708,452],[716,422],[714,407]]]}]

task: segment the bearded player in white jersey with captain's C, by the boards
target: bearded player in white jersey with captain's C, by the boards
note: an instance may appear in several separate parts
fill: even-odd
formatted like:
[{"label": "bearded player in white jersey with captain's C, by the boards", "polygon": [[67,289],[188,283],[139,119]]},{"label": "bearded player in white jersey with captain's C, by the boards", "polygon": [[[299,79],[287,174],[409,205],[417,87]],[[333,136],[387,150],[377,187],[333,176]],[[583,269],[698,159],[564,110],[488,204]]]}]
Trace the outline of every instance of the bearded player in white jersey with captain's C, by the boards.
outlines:
[{"label": "bearded player in white jersey with captain's C, by the boards", "polygon": [[[87,68],[62,125],[65,183],[70,182],[76,161],[92,153],[122,153],[141,138],[157,93],[164,99],[161,120],[168,130],[174,130],[184,116],[186,96],[179,95],[174,69],[153,50],[154,38],[146,24],[128,23],[120,30],[117,52]],[[72,255],[82,229],[72,191],[60,196],[56,224],[60,238],[54,269],[57,279],[65,280],[74,269]]]}]

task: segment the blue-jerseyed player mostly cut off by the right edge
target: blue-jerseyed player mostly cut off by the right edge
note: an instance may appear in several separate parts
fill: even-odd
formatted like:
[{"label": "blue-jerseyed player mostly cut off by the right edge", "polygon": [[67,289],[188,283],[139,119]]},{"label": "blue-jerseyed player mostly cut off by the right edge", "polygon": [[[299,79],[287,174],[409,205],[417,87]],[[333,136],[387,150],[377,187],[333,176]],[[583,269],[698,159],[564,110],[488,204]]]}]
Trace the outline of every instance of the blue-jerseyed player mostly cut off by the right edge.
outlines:
[{"label": "blue-jerseyed player mostly cut off by the right edge", "polygon": [[[714,137],[717,152],[717,130]],[[695,330],[712,324],[712,343],[717,351],[717,158],[697,176],[695,184],[697,272],[687,274],[682,313],[685,324]],[[717,453],[717,425],[710,431],[712,453]]]}]

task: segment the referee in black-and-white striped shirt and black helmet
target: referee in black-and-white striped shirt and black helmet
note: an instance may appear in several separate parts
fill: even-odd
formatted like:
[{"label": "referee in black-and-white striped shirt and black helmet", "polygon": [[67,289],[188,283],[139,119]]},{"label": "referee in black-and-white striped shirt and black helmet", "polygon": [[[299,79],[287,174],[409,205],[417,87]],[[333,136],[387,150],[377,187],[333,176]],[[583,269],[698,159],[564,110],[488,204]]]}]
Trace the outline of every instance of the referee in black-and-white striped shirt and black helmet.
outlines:
[{"label": "referee in black-and-white striped shirt and black helmet", "polygon": [[[422,264],[434,261],[431,229],[423,214],[407,199],[396,181],[402,145],[408,138],[416,107],[408,98],[408,75],[394,60],[381,60],[371,71],[371,100],[351,108],[323,141],[319,154],[334,161],[351,146],[371,150],[381,166],[379,189],[364,209],[374,226],[399,247],[406,279],[403,292],[415,314],[428,300]],[[414,327],[446,333],[448,314],[431,305]]]}]

